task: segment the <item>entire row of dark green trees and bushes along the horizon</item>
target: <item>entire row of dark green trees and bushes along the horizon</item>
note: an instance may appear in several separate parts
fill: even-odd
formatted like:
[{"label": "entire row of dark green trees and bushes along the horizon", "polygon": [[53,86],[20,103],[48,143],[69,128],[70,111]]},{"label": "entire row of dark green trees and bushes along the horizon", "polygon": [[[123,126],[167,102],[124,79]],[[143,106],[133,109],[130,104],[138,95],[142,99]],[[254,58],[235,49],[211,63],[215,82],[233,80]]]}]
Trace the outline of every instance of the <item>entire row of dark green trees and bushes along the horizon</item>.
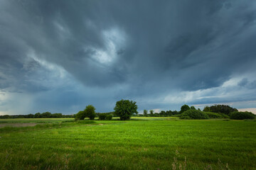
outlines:
[{"label": "entire row of dark green trees and bushes along the horizon", "polygon": [[[63,115],[62,113],[35,113],[28,115],[0,115],[0,118],[75,118],[75,120],[84,120],[89,118],[94,120],[96,117],[99,120],[112,120],[112,117],[119,117],[119,120],[129,120],[132,115],[137,115],[138,106],[135,101],[120,100],[117,101],[113,112],[109,113],[95,113],[95,107],[92,105],[86,106],[84,111],[79,111],[74,115]],[[201,119],[201,118],[233,118],[233,119],[253,119],[255,115],[250,112],[239,112],[237,108],[232,108],[228,105],[214,105],[206,106],[203,111],[200,108],[196,109],[194,106],[188,106],[184,104],[181,106],[180,111],[161,111],[155,113],[150,110],[144,110],[143,115],[145,117],[168,117],[177,116],[183,119]]]}]

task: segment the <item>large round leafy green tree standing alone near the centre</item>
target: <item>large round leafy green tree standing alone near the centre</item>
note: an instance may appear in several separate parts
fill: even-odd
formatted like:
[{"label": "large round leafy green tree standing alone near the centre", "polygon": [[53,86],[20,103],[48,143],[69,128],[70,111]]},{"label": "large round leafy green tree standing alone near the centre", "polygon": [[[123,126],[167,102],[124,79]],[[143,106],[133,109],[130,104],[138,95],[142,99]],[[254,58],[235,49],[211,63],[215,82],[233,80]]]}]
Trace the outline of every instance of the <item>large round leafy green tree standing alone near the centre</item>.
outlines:
[{"label": "large round leafy green tree standing alone near the centre", "polygon": [[114,107],[114,113],[116,113],[120,120],[129,120],[134,113],[137,112],[138,106],[135,101],[121,100],[117,101],[116,106]]}]

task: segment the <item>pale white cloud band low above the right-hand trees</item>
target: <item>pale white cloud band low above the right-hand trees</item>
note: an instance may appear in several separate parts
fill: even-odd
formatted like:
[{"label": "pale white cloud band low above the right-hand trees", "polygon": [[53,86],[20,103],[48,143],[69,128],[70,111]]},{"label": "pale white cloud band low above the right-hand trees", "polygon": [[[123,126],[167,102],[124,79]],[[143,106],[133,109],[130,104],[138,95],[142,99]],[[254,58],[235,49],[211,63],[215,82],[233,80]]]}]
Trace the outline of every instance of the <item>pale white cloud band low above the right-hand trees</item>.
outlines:
[{"label": "pale white cloud band low above the right-hand trees", "polygon": [[[247,89],[238,85],[238,82],[243,78],[234,77],[225,81],[222,86],[210,89],[174,92],[166,95],[164,102],[170,104],[193,103],[193,105],[199,108],[213,104],[227,104],[238,108],[256,106],[256,102],[250,102],[250,98],[254,98],[252,94],[256,93],[256,89]],[[254,80],[251,79],[250,81]],[[249,101],[246,101],[246,99]]]}]

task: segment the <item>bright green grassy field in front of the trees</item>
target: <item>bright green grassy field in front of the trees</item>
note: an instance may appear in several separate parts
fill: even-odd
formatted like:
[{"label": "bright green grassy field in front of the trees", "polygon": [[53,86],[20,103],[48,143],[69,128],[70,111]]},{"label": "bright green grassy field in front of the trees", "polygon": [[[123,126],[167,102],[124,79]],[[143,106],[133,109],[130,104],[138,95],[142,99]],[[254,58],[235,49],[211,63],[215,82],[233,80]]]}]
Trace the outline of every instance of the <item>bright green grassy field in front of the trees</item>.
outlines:
[{"label": "bright green grassy field in front of the trees", "polygon": [[0,128],[0,169],[256,169],[255,120],[36,120]]}]

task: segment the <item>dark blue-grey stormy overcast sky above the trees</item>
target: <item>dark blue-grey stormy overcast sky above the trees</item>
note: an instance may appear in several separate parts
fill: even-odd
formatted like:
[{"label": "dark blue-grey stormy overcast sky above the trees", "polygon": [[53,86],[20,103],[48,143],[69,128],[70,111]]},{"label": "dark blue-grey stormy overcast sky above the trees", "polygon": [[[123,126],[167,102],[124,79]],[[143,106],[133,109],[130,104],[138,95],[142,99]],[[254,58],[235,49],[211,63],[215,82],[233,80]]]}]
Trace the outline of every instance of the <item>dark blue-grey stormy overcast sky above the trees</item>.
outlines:
[{"label": "dark blue-grey stormy overcast sky above the trees", "polygon": [[0,115],[256,108],[255,0],[0,0]]}]

